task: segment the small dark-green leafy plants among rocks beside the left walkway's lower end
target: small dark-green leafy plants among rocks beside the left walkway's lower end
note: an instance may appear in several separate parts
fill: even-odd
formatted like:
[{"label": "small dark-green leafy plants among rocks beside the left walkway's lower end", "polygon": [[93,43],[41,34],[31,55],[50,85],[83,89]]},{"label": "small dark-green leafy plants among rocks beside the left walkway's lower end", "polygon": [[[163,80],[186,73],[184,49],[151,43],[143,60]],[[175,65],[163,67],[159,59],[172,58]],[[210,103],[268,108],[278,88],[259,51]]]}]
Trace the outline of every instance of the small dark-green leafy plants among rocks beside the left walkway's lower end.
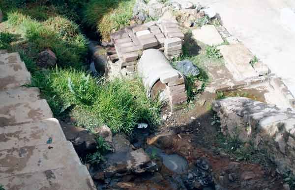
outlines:
[{"label": "small dark-green leafy plants among rocks beside the left walkway's lower end", "polygon": [[96,152],[94,152],[93,154],[88,154],[86,156],[86,163],[92,165],[98,165],[101,162],[105,162],[103,155],[105,155],[111,150],[111,146],[107,142],[105,142],[105,140],[102,137],[98,137],[96,139],[96,142]]}]

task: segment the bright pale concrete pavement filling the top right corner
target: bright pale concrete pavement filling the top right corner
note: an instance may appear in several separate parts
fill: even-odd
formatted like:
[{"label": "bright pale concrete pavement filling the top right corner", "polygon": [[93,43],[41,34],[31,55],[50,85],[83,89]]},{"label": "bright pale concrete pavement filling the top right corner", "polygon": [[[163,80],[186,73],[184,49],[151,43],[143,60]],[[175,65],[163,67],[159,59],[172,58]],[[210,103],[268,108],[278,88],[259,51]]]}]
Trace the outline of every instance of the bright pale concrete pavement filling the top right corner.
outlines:
[{"label": "bright pale concrete pavement filling the top right corner", "polygon": [[227,30],[281,77],[295,95],[294,0],[190,1],[214,8]]}]

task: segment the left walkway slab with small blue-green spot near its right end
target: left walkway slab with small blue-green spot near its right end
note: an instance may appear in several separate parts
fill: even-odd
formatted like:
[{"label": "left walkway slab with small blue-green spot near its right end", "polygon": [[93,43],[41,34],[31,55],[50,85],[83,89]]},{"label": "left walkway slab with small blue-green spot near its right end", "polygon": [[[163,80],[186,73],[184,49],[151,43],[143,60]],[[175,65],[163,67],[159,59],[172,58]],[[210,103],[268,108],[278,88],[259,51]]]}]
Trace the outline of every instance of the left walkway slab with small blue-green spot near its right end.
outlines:
[{"label": "left walkway slab with small blue-green spot near its right end", "polygon": [[0,127],[0,150],[66,141],[58,119]]}]

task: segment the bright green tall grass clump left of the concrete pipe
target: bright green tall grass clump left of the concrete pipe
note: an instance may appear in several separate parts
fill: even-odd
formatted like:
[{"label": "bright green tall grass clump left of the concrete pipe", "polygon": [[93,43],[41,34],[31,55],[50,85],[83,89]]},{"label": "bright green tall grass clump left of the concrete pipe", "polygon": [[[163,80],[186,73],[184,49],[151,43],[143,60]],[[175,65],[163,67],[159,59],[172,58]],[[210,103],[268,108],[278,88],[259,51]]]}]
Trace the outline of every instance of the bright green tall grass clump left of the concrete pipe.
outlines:
[{"label": "bright green tall grass clump left of the concrete pipe", "polygon": [[[53,111],[71,107],[77,124],[89,130],[107,124],[114,132],[132,133],[138,122],[160,123],[161,102],[150,100],[140,79],[97,80],[85,71],[56,68],[36,76],[33,85],[56,98]],[[46,81],[46,82],[44,82]],[[51,103],[51,101],[49,101]]]}]

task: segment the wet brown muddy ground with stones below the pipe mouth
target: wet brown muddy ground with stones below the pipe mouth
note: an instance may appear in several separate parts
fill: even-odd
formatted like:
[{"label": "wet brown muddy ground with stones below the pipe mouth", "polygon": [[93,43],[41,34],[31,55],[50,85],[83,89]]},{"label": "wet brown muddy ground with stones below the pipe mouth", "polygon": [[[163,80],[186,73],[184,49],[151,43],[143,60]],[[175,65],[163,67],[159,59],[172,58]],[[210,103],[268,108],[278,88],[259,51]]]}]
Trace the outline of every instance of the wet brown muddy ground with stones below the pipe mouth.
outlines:
[{"label": "wet brown muddy ground with stones below the pipe mouth", "polygon": [[[245,93],[246,91],[246,93]],[[226,95],[244,95],[265,101],[259,90],[248,89],[226,93]],[[153,174],[144,173],[122,180],[117,187],[126,190],[185,190],[188,188],[186,178],[200,159],[205,159],[213,178],[208,186],[194,186],[195,190],[283,190],[282,177],[276,173],[275,166],[268,168],[259,164],[237,161],[236,158],[219,149],[219,126],[212,125],[214,113],[211,102],[215,94],[204,92],[200,95],[193,108],[169,113],[165,108],[163,115],[167,120],[154,132],[137,129],[131,140],[134,147],[143,147],[159,166]],[[164,135],[165,138],[157,139]],[[186,171],[179,173],[165,166],[162,156],[157,155],[161,148],[167,155],[177,154],[187,161]],[[161,154],[161,153],[159,153]],[[178,163],[177,163],[178,162]],[[176,160],[176,165],[179,161]],[[167,164],[166,164],[167,165]]]}]

